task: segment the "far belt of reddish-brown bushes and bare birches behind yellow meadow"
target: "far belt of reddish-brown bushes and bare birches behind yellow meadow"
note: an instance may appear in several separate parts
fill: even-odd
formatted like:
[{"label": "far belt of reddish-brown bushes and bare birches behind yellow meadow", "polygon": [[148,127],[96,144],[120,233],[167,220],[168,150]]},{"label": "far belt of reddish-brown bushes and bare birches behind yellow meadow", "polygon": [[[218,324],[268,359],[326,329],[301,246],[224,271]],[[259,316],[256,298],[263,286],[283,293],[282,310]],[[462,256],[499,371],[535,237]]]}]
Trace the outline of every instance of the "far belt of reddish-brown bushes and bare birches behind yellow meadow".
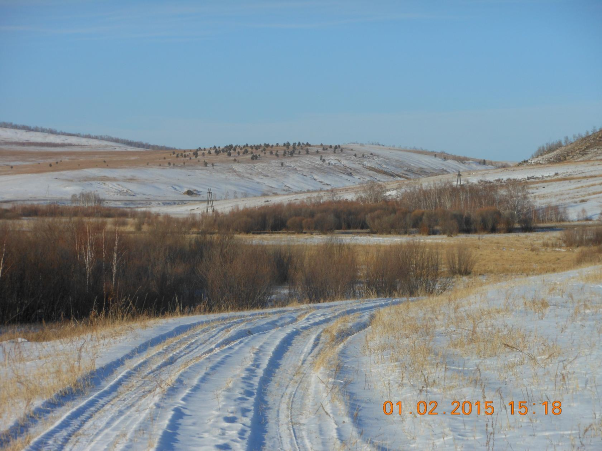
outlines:
[{"label": "far belt of reddish-brown bushes and bare birches behind yellow meadow", "polygon": [[408,189],[385,200],[382,188],[368,185],[357,200],[309,200],[235,209],[206,217],[203,227],[220,232],[367,230],[377,233],[512,232],[539,222],[566,219],[557,206],[535,207],[524,184],[453,183]]}]

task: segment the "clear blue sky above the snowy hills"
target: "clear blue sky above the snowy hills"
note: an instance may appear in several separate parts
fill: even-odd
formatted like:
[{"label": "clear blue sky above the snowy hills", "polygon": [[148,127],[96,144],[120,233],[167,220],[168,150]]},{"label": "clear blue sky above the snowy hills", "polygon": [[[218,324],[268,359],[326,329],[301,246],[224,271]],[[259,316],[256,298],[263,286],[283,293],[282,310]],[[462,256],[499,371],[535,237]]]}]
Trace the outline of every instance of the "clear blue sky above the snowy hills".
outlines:
[{"label": "clear blue sky above the snowy hills", "polygon": [[602,126],[602,1],[0,0],[0,120],[491,159]]}]

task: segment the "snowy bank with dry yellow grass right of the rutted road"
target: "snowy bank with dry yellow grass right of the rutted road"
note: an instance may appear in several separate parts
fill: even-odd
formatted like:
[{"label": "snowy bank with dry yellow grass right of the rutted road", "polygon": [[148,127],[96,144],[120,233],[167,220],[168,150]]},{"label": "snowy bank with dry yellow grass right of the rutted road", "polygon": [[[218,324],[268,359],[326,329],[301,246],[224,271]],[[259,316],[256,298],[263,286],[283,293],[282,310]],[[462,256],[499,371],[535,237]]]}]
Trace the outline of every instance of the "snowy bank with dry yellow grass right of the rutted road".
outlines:
[{"label": "snowy bank with dry yellow grass right of the rutted road", "polygon": [[[600,449],[601,320],[600,266],[383,309],[341,349],[337,386],[353,402],[338,409],[360,409],[355,431],[376,449]],[[420,400],[438,414],[417,414]],[[472,413],[452,416],[453,400]],[[556,400],[562,413],[545,415]]]}]

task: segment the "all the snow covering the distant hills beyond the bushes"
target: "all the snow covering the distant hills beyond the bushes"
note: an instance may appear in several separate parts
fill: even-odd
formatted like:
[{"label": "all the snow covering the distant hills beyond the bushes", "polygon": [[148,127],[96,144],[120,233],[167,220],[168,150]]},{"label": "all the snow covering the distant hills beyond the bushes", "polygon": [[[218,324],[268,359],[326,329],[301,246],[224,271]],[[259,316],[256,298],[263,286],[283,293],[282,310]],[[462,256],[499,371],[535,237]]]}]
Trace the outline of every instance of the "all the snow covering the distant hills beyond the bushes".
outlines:
[{"label": "all the snow covering the distant hills beyond the bushes", "polygon": [[[37,140],[46,139],[38,136],[45,133],[0,129],[0,140],[4,137],[6,141],[27,141],[30,140],[28,133],[36,135]],[[77,148],[82,152],[118,149],[120,146],[61,135],[48,135],[48,140],[77,143],[84,146]],[[24,162],[32,149],[55,149],[14,148],[18,148],[17,152],[4,156],[6,161],[2,160],[3,165]],[[362,184],[367,182],[386,183],[388,194],[394,196],[417,183],[455,183],[455,174],[460,171],[464,183],[507,179],[526,181],[538,206],[559,204],[566,207],[569,219],[596,219],[602,211],[602,161],[493,168],[472,161],[444,160],[441,158],[443,155],[434,158],[429,154],[382,146],[349,144],[343,146],[343,153],[327,150],[316,154],[315,149],[310,147],[310,155],[287,158],[261,155],[253,162],[247,155],[244,158],[248,160],[242,163],[220,156],[221,159],[215,160],[215,167],[203,167],[199,162],[190,161],[182,165],[178,160],[175,167],[159,167],[157,162],[146,165],[144,161],[140,162],[144,164],[141,167],[95,167],[31,174],[10,174],[7,171],[0,176],[0,203],[68,203],[72,194],[94,191],[107,200],[108,205],[149,207],[158,213],[188,215],[205,211],[208,188],[213,191],[216,209],[228,211],[235,207],[304,200],[327,195],[331,190],[335,190],[340,198],[354,198]],[[21,161],[19,155],[22,155]],[[320,162],[320,156],[326,162]],[[207,156],[205,159],[211,162],[212,158]],[[183,194],[188,189],[199,195]]]}]

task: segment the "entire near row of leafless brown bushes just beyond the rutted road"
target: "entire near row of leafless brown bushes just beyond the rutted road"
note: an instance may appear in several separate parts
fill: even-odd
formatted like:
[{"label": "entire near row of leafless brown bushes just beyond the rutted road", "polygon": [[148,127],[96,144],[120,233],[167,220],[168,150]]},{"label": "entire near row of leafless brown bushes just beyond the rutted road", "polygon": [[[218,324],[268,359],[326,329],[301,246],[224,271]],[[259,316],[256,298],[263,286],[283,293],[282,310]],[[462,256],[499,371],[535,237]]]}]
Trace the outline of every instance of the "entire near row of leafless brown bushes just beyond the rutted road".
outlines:
[{"label": "entire near row of leafless brown bushes just beyond the rutted road", "polygon": [[[340,242],[244,244],[226,236],[173,233],[160,218],[149,233],[122,234],[104,221],[40,218],[29,231],[0,229],[0,322],[246,310],[271,305],[288,284],[300,302],[444,289],[441,255],[424,244],[384,250],[390,268],[358,265]],[[367,265],[373,268],[373,265]]]}]

